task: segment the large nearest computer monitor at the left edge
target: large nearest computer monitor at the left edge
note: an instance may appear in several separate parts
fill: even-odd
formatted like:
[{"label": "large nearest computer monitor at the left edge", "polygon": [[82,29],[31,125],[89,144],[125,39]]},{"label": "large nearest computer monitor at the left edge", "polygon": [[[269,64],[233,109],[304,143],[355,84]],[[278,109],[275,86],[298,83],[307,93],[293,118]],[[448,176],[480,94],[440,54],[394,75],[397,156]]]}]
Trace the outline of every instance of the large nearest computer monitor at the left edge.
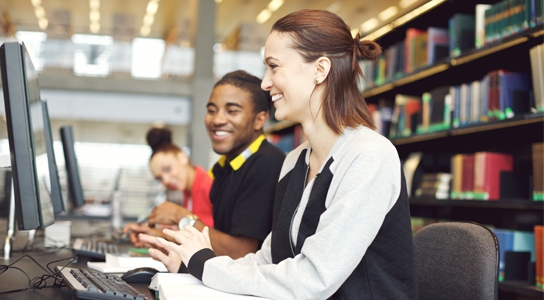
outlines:
[{"label": "large nearest computer monitor at the left edge", "polygon": [[19,230],[55,221],[38,73],[22,42],[0,46],[0,66]]}]

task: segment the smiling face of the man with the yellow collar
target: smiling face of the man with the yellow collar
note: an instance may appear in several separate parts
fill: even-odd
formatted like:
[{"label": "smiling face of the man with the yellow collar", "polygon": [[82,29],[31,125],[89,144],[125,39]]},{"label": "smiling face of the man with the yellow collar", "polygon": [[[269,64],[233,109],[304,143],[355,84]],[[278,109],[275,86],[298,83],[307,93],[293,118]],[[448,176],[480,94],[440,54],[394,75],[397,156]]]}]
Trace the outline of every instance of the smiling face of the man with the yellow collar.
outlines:
[{"label": "smiling face of the man with the yellow collar", "polygon": [[[251,94],[230,84],[215,87],[205,117],[213,150],[231,160],[260,135]],[[260,114],[265,114],[261,112]]]}]

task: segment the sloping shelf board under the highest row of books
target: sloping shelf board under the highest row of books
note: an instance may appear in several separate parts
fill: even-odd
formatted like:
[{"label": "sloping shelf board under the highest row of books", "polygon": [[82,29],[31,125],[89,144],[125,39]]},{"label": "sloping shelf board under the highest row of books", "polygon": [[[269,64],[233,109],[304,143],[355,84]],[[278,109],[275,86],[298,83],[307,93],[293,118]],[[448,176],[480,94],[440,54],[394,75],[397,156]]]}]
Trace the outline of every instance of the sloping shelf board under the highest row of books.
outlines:
[{"label": "sloping shelf board under the highest row of books", "polygon": [[533,39],[536,39],[544,34],[544,26],[540,25],[538,27],[520,32],[517,35],[507,37],[500,44],[490,44],[486,45],[484,48],[475,49],[471,53],[465,54],[463,56],[452,58],[448,63],[439,63],[437,65],[428,67],[416,73],[408,74],[406,77],[397,79],[394,82],[388,83],[383,86],[378,86],[369,90],[362,92],[363,98],[370,98],[385,92],[391,91],[395,88],[413,83],[415,81],[428,78],[430,76],[436,75],[447,71],[450,68],[458,67],[469,62],[476,61],[483,57],[486,57],[493,53],[498,53],[506,49],[512,48],[514,46],[527,43]]}]

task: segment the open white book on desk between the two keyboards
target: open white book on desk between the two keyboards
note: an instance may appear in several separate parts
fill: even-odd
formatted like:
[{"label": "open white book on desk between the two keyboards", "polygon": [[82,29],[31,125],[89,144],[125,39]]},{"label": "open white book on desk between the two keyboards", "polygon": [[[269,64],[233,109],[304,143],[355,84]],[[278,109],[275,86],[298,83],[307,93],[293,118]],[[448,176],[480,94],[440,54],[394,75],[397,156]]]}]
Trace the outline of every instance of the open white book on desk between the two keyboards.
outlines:
[{"label": "open white book on desk between the two keyboards", "polygon": [[104,273],[125,273],[129,270],[149,267],[159,272],[168,272],[163,263],[154,260],[151,256],[131,256],[128,254],[106,253],[105,262],[87,262],[87,267]]}]

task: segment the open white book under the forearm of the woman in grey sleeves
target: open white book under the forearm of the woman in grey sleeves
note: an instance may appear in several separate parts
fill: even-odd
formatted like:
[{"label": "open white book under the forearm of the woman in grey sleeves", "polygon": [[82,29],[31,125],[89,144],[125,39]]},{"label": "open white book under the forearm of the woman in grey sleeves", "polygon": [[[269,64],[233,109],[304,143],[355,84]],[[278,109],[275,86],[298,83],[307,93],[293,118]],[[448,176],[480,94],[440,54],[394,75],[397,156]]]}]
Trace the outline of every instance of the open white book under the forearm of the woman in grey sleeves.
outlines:
[{"label": "open white book under the forearm of the woman in grey sleeves", "polygon": [[267,299],[222,292],[205,286],[190,274],[157,273],[151,279],[149,288],[158,291],[158,299],[161,300]]}]

